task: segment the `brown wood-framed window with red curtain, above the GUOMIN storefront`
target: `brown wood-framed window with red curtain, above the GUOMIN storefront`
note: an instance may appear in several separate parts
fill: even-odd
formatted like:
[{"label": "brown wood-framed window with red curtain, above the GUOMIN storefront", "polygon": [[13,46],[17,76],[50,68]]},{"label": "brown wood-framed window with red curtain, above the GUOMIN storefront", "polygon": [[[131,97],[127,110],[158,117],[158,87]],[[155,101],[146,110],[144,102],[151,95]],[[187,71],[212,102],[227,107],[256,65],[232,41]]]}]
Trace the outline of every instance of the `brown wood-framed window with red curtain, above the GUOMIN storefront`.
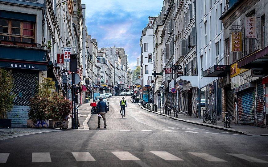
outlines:
[{"label": "brown wood-framed window with red curtain, above the GUOMIN storefront", "polygon": [[0,19],[0,40],[34,43],[34,23]]}]

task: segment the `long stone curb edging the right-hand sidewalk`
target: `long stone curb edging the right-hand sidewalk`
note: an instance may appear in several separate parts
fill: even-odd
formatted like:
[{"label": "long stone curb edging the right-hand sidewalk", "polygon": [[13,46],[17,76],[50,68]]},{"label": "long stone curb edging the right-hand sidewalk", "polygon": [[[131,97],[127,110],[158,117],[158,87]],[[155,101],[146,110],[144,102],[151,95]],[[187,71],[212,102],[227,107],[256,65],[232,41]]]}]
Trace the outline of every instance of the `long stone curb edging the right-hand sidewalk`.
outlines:
[{"label": "long stone curb edging the right-hand sidewalk", "polygon": [[[179,119],[179,118],[171,117],[171,116],[166,115],[166,114],[162,114],[162,113],[158,113],[158,112],[155,112],[155,111],[150,111],[150,110],[148,110],[148,109],[145,109],[145,108],[143,108],[139,103],[138,103],[138,105],[139,105],[142,109],[144,109],[144,110],[146,110],[146,111],[149,111],[149,112],[151,112],[151,113],[157,113],[158,115],[163,115],[163,116],[169,117],[169,118],[174,119],[174,120],[178,120],[178,121],[182,121],[182,122],[187,122],[187,123],[192,123],[192,124],[201,125],[201,126],[207,126],[207,127],[211,127],[211,128],[215,128],[215,129],[220,129],[220,130],[223,130],[223,131],[229,131],[229,132],[239,133],[239,134],[243,134],[243,135],[253,136],[253,135],[250,134],[249,132],[236,131],[236,130],[226,129],[226,128],[219,127],[219,126],[213,126],[213,125],[210,125],[210,124],[204,124],[204,123],[200,123],[200,122],[193,122],[193,121],[188,121],[188,120],[185,120],[185,119]],[[261,136],[265,136],[265,135],[261,135]],[[267,136],[268,136],[268,135],[267,135]]]}]

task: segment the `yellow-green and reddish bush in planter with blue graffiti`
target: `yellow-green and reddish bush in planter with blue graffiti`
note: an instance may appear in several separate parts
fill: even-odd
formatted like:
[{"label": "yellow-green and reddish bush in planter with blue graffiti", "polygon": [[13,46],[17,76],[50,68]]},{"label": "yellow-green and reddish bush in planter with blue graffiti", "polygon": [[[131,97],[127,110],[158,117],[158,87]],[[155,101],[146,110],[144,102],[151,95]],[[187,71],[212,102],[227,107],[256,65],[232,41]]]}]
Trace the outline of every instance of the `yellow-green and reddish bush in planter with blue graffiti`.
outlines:
[{"label": "yellow-green and reddish bush in planter with blue graffiti", "polygon": [[30,99],[30,110],[27,120],[28,128],[48,128],[48,111],[51,107],[52,89],[55,89],[52,78],[43,78],[37,86],[37,93]]}]

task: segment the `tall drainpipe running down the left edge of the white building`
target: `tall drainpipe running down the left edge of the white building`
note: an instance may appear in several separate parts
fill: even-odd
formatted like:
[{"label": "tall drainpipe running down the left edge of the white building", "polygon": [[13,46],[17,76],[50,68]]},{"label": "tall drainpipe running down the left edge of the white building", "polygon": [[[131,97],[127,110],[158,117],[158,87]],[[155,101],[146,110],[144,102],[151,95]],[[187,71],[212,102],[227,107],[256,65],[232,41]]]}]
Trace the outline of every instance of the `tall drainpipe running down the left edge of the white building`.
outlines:
[{"label": "tall drainpipe running down the left edge of the white building", "polygon": [[[195,3],[194,3],[194,5],[195,5],[194,6],[195,7],[194,13],[195,13],[195,24],[196,24],[196,0],[194,0],[194,1],[195,1]],[[196,26],[196,62],[198,62],[198,58],[197,58],[197,24],[195,26]],[[198,65],[198,63],[196,63],[196,74],[198,76],[198,70],[197,70],[198,68],[197,68],[197,65]],[[199,78],[197,78],[197,111],[198,111],[197,117],[200,117],[200,115],[201,115],[201,108],[200,108]]]}]

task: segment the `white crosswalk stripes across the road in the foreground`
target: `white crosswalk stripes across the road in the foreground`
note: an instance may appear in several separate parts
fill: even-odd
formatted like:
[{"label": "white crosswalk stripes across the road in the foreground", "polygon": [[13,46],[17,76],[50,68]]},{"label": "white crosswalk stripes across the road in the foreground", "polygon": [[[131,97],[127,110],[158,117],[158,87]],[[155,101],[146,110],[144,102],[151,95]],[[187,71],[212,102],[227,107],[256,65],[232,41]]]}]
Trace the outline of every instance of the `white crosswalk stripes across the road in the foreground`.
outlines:
[{"label": "white crosswalk stripes across the road in the foreground", "polygon": [[[95,154],[90,154],[89,152],[71,152],[71,153],[77,162],[100,161],[99,159],[95,159],[96,157],[94,158],[92,156]],[[142,152],[142,153],[146,154],[146,152]],[[66,152],[66,154],[70,154],[70,152]],[[178,155],[178,152],[171,153],[171,152],[166,152],[166,151],[148,151],[147,154],[154,154],[155,156],[150,156],[150,158],[153,158],[153,159],[160,158],[164,161],[186,161],[183,159],[187,157],[185,153],[183,154],[183,157],[178,157],[174,155],[174,154]],[[233,159],[231,159],[230,157],[226,157],[226,159],[225,158],[221,159],[221,157],[216,157],[205,152],[188,152],[187,154],[191,154],[193,156],[196,156],[200,159],[203,159],[209,162],[227,162],[226,160],[233,161]],[[256,157],[248,156],[245,154],[236,154],[236,153],[226,153],[226,154],[233,156],[234,158],[243,159],[243,160],[253,162],[253,163],[268,163],[268,161],[258,159]],[[226,154],[222,153],[221,156],[224,156],[224,155],[227,156]],[[0,163],[2,164],[7,163],[10,155],[11,155],[10,153],[0,153]],[[140,155],[141,154],[137,152],[133,154],[132,152],[128,152],[128,151],[112,151],[112,152],[109,152],[106,156],[115,156],[120,161],[140,161],[141,160],[140,158],[144,158],[144,156],[140,156]],[[32,152],[31,156],[32,156],[32,161],[31,161],[32,163],[52,162],[50,152]],[[262,157],[264,158],[266,156],[267,155],[262,156]],[[55,161],[57,161],[57,159],[54,159],[53,162]]]}]

